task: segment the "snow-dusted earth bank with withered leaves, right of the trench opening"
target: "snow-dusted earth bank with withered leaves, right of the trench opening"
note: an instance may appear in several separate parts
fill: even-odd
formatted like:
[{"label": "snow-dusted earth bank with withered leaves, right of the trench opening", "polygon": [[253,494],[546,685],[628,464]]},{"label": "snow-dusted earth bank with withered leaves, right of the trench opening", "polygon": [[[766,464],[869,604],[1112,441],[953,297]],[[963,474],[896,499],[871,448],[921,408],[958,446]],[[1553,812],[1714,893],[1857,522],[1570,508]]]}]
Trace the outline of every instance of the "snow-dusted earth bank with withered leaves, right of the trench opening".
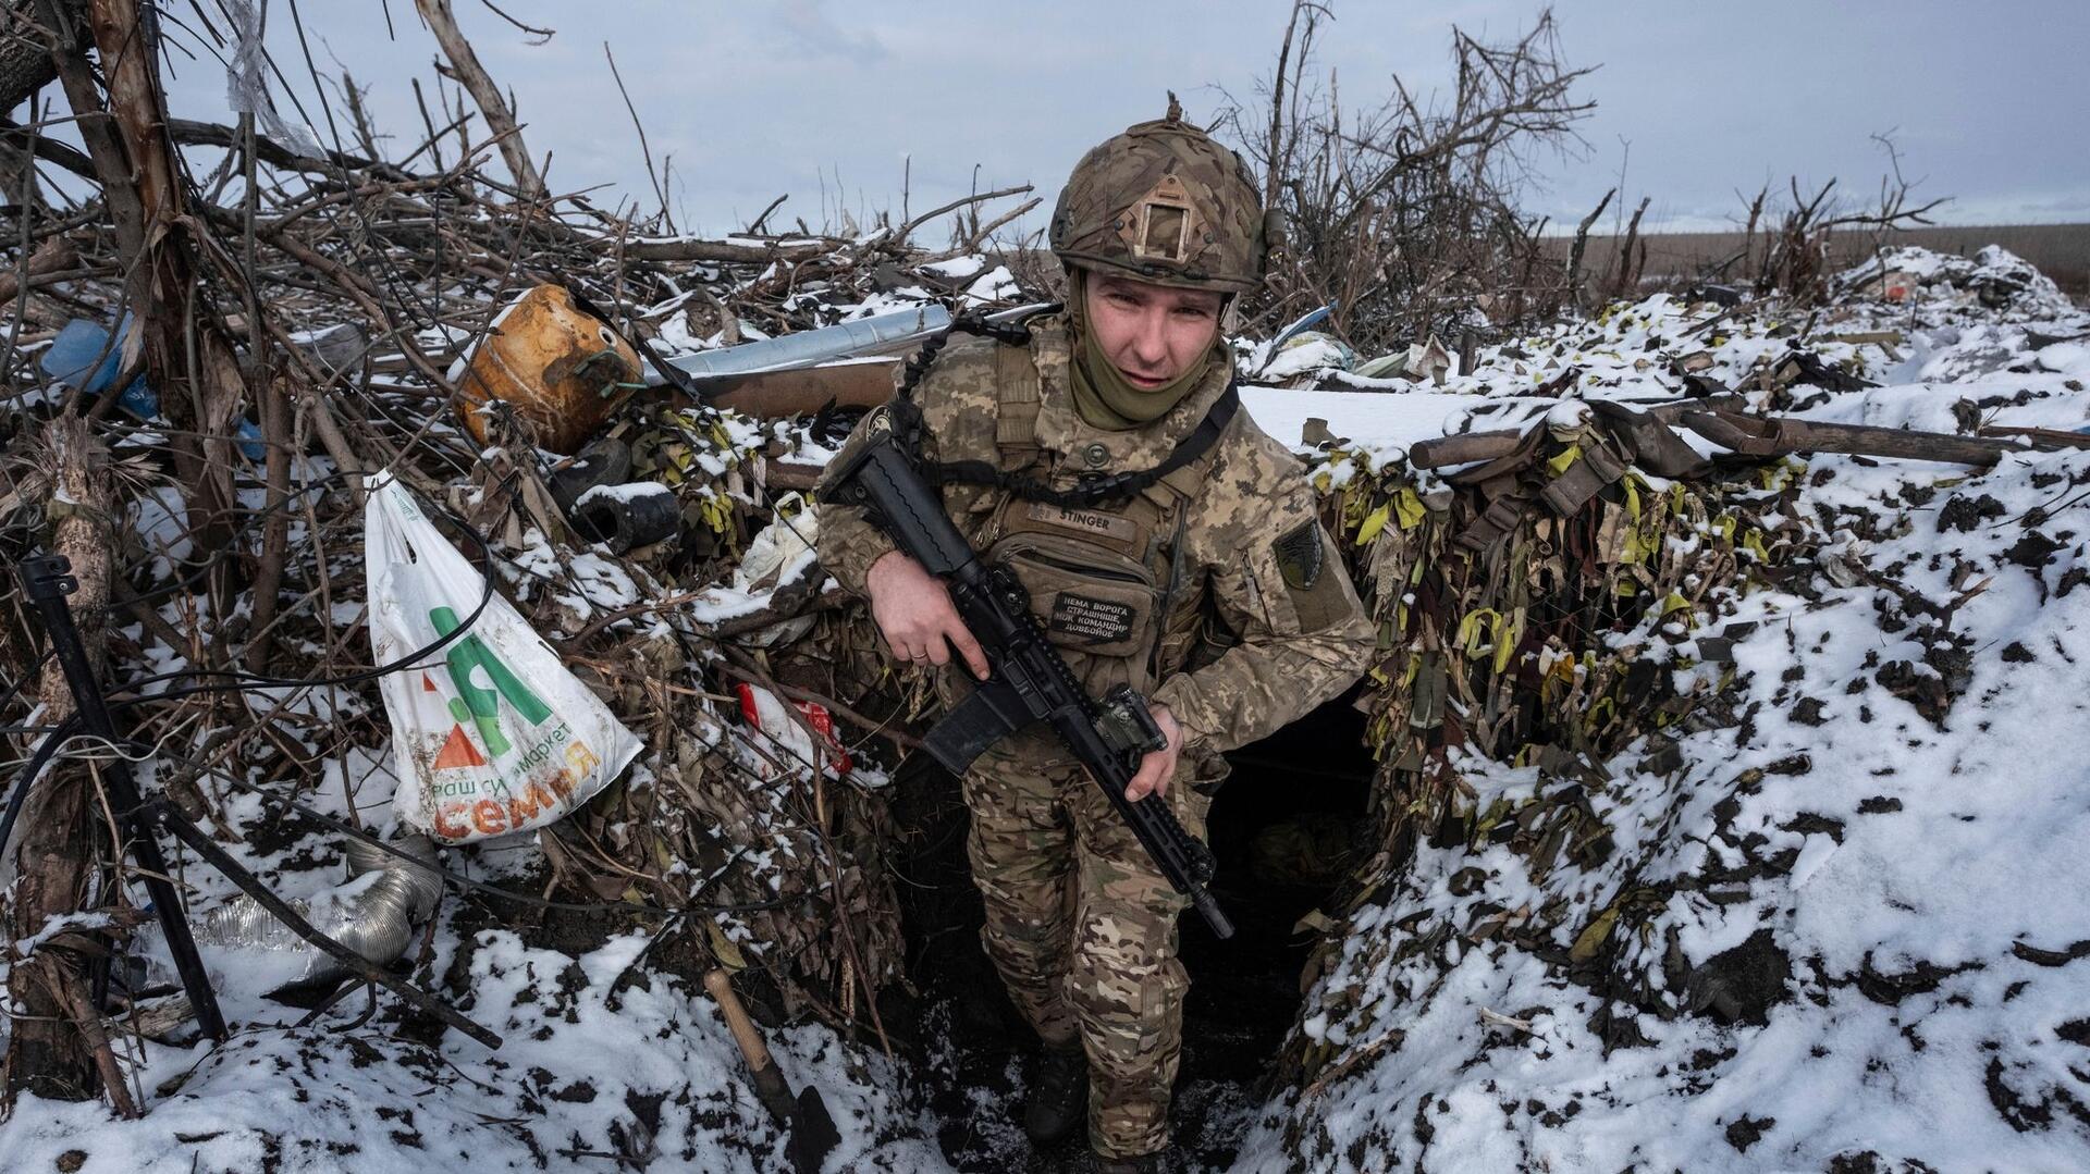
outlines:
[{"label": "snow-dusted earth bank with withered leaves, right of the trench opening", "polygon": [[[1444,430],[1517,424],[1513,470],[1323,445],[1386,648],[1379,852],[1239,1168],[2080,1157],[2090,925],[2027,884],[2080,769],[2027,748],[2082,712],[2090,320],[2000,251],[1889,267],[1900,295],[1875,263],[1827,307],[1657,295],[1484,351]],[[1676,474],[1601,401],[1678,391],[2048,447]]]}]

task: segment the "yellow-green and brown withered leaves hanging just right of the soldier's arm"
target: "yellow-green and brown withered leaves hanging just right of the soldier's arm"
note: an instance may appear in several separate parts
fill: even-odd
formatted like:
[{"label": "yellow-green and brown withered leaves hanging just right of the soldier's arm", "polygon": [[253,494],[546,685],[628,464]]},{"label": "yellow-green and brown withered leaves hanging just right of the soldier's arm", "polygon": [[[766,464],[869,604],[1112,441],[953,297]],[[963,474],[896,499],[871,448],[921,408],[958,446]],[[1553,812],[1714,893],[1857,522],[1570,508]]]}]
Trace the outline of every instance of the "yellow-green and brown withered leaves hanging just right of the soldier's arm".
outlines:
[{"label": "yellow-green and brown withered leaves hanging just right of the soldier's arm", "polygon": [[[1561,514],[1542,495],[1549,485],[1590,464],[1588,451],[1632,451],[1603,422],[1568,416],[1574,422],[1536,426],[1534,443],[1507,457],[1507,485],[1492,483],[1499,499],[1524,503],[1505,531],[1484,520],[1482,487],[1446,485],[1400,460],[1367,474],[1369,455],[1338,451],[1317,472],[1388,648],[1367,696],[1379,844],[1348,894],[1352,913],[1381,894],[1417,840],[1507,844],[1536,884],[1555,865],[1611,854],[1611,831],[1590,804],[1611,756],[1649,737],[1659,746],[1662,731],[1718,702],[1726,668],[1710,633],[1751,585],[1812,545],[1793,516],[1795,462],[1689,483],[1611,464],[1616,480]],[[1478,760],[1534,769],[1553,785],[1513,804],[1467,781]],[[1540,942],[1578,915],[1570,900],[1480,907],[1457,932]],[[1578,959],[1593,957],[1609,928],[1578,938]],[[1427,930],[1400,948],[1430,953],[1455,932]],[[1323,948],[1304,980],[1327,961]],[[1310,1080],[1338,1053],[1329,1040],[1294,1036],[1285,1065]]]}]

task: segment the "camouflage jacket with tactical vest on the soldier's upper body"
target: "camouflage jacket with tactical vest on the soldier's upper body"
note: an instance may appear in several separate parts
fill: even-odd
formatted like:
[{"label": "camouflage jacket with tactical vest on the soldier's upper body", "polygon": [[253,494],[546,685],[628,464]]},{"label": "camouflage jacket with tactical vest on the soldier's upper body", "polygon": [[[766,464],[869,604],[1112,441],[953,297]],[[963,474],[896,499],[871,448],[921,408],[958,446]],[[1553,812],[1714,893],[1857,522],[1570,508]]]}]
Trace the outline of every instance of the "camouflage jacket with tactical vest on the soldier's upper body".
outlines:
[{"label": "camouflage jacket with tactical vest on the soldier's upper body", "polygon": [[[1028,349],[986,338],[943,349],[915,389],[926,462],[991,462],[1053,485],[1154,468],[1227,391],[1231,372],[1221,368],[1154,424],[1091,428],[1066,389],[1066,322],[1028,326]],[[849,439],[857,443],[861,430]],[[1039,620],[1095,694],[1127,681],[1168,706],[1200,779],[1223,775],[1216,752],[1346,689],[1373,652],[1375,631],[1321,531],[1300,462],[1246,412],[1200,460],[1122,506],[1060,510],[989,485],[945,485],[943,499],[974,549],[1024,581]],[[861,508],[821,506],[819,558],[844,589],[863,593],[890,549]],[[961,677],[945,671],[945,700]]]}]

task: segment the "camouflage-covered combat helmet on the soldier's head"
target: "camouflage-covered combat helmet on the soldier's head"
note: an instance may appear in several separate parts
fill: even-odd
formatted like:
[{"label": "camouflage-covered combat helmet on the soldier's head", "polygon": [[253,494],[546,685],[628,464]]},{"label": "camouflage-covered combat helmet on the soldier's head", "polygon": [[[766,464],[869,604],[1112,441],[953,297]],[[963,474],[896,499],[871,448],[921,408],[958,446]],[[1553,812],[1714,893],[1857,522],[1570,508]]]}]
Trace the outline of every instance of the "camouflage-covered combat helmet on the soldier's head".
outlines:
[{"label": "camouflage-covered combat helmet on the soldier's head", "polygon": [[1262,196],[1248,163],[1183,121],[1137,123],[1081,157],[1051,211],[1066,265],[1158,286],[1248,292],[1262,284]]}]

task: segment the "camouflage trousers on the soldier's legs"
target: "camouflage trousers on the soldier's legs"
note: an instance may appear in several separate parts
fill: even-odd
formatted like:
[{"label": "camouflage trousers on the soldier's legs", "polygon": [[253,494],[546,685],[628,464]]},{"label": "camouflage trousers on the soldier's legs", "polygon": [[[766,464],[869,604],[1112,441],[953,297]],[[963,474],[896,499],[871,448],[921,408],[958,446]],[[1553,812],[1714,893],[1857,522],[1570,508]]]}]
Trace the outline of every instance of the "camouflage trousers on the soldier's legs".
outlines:
[{"label": "camouflage trousers on the soldier's legs", "polygon": [[[997,750],[1001,750],[997,754]],[[1204,836],[1210,800],[1179,769],[1168,804]],[[1177,915],[1189,898],[1154,869],[1104,792],[1074,762],[1018,735],[966,775],[980,938],[1045,1047],[1089,1057],[1089,1143],[1104,1157],[1168,1143],[1183,1055]]]}]

